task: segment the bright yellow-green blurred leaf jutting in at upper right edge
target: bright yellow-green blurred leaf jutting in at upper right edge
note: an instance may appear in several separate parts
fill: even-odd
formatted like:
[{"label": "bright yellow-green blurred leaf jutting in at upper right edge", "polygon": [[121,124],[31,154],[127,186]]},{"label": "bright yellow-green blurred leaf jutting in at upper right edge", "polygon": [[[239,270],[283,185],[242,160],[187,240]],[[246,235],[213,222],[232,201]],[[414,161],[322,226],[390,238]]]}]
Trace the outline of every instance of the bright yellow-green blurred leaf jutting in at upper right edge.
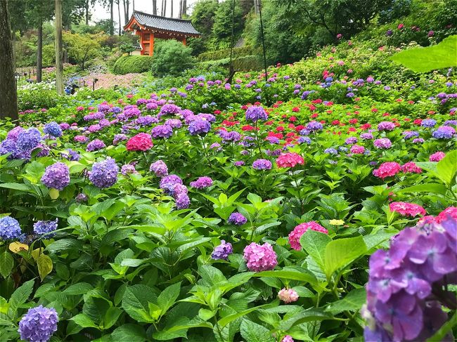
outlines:
[{"label": "bright yellow-green blurred leaf jutting in at upper right edge", "polygon": [[447,37],[441,43],[427,48],[411,48],[392,56],[392,60],[414,72],[457,66],[457,35]]}]

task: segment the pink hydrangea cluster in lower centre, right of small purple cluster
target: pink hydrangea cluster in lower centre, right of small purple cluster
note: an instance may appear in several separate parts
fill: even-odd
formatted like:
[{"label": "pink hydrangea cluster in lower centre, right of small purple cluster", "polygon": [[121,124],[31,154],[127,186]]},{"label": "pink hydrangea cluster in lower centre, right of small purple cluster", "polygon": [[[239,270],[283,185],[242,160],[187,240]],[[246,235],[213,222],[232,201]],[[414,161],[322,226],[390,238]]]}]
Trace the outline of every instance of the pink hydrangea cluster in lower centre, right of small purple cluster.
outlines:
[{"label": "pink hydrangea cluster in lower centre, right of small purple cluster", "polygon": [[245,246],[243,257],[247,268],[254,272],[273,270],[278,265],[276,253],[269,243],[261,245],[251,242]]}]

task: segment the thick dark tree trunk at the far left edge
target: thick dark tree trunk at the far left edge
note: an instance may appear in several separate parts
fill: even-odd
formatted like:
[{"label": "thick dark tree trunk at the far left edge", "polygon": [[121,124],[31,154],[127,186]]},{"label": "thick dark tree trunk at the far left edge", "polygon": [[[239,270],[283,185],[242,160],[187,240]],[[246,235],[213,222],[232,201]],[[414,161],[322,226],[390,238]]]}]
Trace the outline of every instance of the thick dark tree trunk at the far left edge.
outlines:
[{"label": "thick dark tree trunk at the far left edge", "polygon": [[8,0],[0,1],[0,119],[18,119],[18,93],[14,79]]}]

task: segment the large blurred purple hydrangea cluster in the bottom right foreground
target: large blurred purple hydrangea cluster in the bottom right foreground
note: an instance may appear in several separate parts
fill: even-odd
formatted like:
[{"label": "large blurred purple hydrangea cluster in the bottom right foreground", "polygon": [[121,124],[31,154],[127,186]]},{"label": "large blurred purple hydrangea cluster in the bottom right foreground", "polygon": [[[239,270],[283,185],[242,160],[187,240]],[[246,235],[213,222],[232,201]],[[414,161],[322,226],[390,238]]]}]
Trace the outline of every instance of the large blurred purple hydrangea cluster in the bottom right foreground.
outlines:
[{"label": "large blurred purple hydrangea cluster in the bottom right foreground", "polygon": [[401,230],[369,265],[365,340],[425,341],[447,320],[442,303],[455,301],[442,288],[457,282],[457,221]]}]

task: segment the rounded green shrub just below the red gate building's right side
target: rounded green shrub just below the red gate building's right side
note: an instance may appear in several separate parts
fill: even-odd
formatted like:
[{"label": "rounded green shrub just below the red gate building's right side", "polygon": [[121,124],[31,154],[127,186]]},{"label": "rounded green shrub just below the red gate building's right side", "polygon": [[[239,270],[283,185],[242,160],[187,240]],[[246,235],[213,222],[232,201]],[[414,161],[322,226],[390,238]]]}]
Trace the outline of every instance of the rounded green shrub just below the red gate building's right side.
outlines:
[{"label": "rounded green shrub just below the red gate building's right side", "polygon": [[155,49],[152,71],[156,76],[179,75],[195,65],[192,49],[179,41],[169,40],[158,44]]}]

